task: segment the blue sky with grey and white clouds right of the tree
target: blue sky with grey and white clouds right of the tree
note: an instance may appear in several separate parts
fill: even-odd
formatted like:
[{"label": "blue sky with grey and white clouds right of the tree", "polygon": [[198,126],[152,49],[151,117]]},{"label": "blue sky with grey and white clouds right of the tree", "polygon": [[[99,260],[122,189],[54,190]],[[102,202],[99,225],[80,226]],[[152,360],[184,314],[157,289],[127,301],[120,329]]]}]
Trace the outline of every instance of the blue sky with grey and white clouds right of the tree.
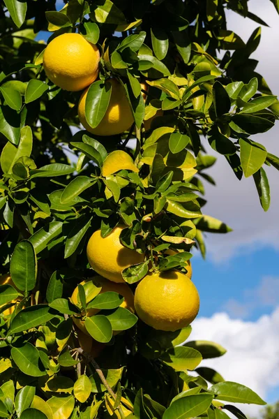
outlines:
[{"label": "blue sky with grey and white clouds right of the tree", "polygon": [[[262,40],[252,58],[273,94],[279,94],[279,16],[269,0],[250,0],[249,10],[270,27],[262,27]],[[236,13],[227,14],[227,27],[248,41],[259,25]],[[279,123],[255,135],[279,156]],[[206,149],[216,155],[204,142]],[[227,381],[248,385],[268,403],[279,399],[279,172],[266,166],[271,207],[264,212],[252,178],[236,179],[223,156],[209,171],[217,186],[206,184],[209,202],[204,213],[222,219],[233,232],[206,237],[206,260],[195,254],[193,281],[200,295],[199,316],[190,339],[216,341],[227,349],[221,358],[204,360]],[[239,406],[251,418],[261,407]]]}]

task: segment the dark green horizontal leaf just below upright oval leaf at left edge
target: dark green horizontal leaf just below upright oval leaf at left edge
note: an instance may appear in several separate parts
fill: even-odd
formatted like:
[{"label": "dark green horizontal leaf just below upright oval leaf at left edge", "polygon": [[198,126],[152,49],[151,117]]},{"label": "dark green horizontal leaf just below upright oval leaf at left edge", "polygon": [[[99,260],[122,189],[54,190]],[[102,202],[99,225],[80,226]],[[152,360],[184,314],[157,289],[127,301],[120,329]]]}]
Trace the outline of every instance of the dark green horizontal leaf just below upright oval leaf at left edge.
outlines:
[{"label": "dark green horizontal leaf just below upright oval leaf at left edge", "polygon": [[37,304],[23,309],[13,318],[10,325],[10,333],[23,332],[24,330],[36,328],[47,323],[56,316],[57,312],[48,307],[47,304]]}]

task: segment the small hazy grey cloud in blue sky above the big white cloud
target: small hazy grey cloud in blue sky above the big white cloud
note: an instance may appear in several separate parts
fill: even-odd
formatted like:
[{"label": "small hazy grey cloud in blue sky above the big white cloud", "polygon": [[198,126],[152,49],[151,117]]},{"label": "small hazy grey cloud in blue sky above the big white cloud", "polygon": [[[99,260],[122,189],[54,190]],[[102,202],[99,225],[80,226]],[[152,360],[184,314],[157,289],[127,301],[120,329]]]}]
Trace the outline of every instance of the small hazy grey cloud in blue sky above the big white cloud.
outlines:
[{"label": "small hazy grey cloud in blue sky above the big white cloud", "polygon": [[256,288],[243,290],[242,302],[230,298],[223,308],[234,318],[246,318],[260,307],[276,307],[279,301],[279,277],[264,277]]}]

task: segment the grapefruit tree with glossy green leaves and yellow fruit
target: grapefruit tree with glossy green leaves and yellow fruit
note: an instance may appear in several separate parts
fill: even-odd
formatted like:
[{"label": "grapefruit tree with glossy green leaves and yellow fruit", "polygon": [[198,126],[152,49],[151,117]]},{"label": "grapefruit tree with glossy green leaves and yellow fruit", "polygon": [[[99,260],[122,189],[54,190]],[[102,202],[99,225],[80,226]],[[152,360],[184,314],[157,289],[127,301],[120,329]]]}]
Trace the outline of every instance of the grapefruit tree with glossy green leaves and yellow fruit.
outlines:
[{"label": "grapefruit tree with glossy green leaves and yellow fruit", "polygon": [[261,29],[244,43],[227,10],[266,25],[247,0],[1,2],[0,417],[265,404],[199,366],[223,347],[190,340],[191,249],[230,230],[204,212],[204,144],[265,211],[279,168],[251,137],[278,119],[250,58]]}]

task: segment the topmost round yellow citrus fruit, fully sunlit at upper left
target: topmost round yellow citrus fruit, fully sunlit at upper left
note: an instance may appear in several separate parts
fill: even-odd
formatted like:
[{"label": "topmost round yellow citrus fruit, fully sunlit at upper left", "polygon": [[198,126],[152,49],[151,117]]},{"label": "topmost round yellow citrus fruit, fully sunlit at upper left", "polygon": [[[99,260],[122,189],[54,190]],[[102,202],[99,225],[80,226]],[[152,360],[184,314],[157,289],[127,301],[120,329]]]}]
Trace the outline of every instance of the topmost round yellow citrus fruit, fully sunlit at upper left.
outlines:
[{"label": "topmost round yellow citrus fruit, fully sunlit at upper left", "polygon": [[80,34],[56,36],[45,48],[43,66],[47,77],[70,91],[82,90],[98,77],[100,52]]}]

